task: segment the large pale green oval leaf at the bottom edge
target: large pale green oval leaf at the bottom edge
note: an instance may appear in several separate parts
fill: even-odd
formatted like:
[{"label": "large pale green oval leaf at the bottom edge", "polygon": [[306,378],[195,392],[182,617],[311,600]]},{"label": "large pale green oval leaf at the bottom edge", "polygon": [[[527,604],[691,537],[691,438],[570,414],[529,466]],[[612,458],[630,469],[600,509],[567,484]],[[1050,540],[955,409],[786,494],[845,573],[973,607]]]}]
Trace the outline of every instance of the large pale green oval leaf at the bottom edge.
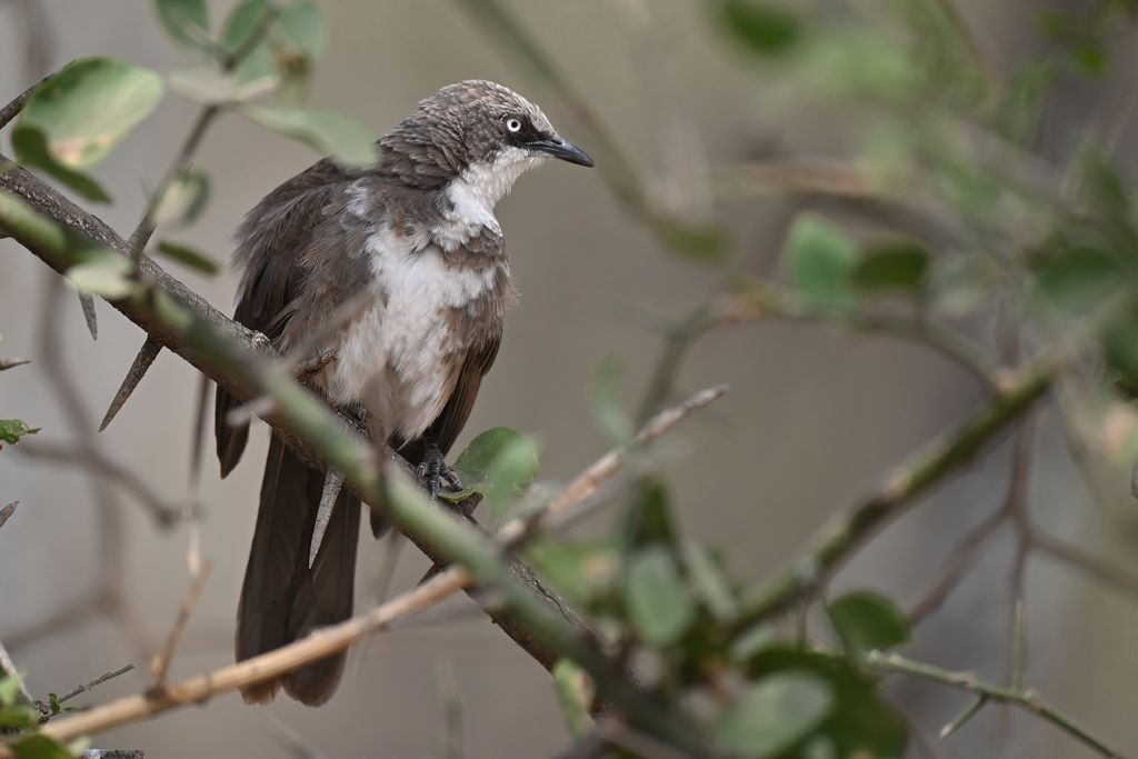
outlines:
[{"label": "large pale green oval leaf at the bottom edge", "polygon": [[833,688],[817,675],[777,673],[743,691],[720,717],[715,736],[741,757],[775,757],[818,727],[833,701]]}]

